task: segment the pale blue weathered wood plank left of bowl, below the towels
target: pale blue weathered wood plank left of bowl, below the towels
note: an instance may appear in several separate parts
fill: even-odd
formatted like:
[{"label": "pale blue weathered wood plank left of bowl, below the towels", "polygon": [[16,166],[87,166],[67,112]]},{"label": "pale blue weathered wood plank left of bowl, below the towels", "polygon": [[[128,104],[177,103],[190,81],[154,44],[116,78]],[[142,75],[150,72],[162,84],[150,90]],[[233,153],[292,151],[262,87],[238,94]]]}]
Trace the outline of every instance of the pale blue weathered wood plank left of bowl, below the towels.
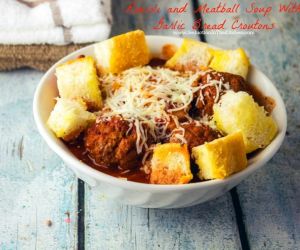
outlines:
[{"label": "pale blue weathered wood plank left of bowl, below the towels", "polygon": [[0,73],[0,249],[77,244],[77,179],[44,143],[32,117],[41,76],[27,69]]}]

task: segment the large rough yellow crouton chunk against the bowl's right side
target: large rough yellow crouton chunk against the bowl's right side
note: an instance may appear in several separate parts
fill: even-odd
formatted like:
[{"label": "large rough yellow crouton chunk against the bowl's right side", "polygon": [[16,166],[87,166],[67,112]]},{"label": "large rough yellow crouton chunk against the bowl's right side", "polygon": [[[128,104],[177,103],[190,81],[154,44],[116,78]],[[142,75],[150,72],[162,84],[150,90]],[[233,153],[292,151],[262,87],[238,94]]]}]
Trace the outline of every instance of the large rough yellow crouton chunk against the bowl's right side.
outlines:
[{"label": "large rough yellow crouton chunk against the bowl's right side", "polygon": [[266,147],[277,133],[273,118],[246,92],[228,91],[213,110],[219,130],[226,134],[242,132],[247,153]]}]

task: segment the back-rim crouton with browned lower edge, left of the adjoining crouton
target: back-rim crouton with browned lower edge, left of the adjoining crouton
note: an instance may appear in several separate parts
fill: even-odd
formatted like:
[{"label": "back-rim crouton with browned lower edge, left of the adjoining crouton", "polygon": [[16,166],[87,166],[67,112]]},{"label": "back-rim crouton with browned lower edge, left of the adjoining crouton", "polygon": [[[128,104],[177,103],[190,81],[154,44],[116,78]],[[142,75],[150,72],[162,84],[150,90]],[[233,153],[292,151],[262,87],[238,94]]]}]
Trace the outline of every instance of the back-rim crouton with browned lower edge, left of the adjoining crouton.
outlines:
[{"label": "back-rim crouton with browned lower edge, left of the adjoining crouton", "polygon": [[212,54],[206,43],[185,38],[174,56],[166,62],[166,66],[179,71],[194,71],[207,67],[211,58]]}]

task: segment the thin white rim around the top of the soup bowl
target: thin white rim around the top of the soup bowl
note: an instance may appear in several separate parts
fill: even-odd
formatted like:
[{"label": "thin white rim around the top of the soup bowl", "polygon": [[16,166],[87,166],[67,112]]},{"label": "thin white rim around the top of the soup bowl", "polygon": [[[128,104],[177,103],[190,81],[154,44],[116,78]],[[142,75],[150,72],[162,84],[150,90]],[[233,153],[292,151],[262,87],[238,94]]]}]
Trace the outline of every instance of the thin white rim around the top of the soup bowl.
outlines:
[{"label": "thin white rim around the top of the soup bowl", "polygon": [[[180,41],[183,38],[172,37],[172,36],[154,36],[154,35],[148,36],[147,35],[146,39],[147,39],[147,41],[148,40],[150,40],[150,41],[151,40],[152,41],[164,40],[164,39]],[[215,47],[210,44],[208,44],[208,45],[211,47]],[[54,70],[57,67],[57,65],[63,63],[66,60],[69,60],[71,57],[75,56],[76,54],[78,54],[80,52],[90,49],[92,46],[94,46],[94,44],[91,44],[91,45],[85,46],[79,50],[76,50],[76,51],[68,54],[67,56],[63,57],[62,59],[60,59],[54,65],[52,65],[48,69],[48,71],[43,75],[43,77],[41,78],[41,80],[35,90],[34,98],[33,98],[33,116],[34,116],[34,120],[35,120],[35,123],[36,123],[39,133],[41,134],[43,139],[46,141],[48,146],[57,155],[59,155],[59,157],[65,163],[67,163],[67,165],[70,164],[72,166],[70,168],[72,168],[73,170],[77,170],[78,172],[89,176],[89,178],[96,179],[97,181],[110,183],[112,185],[115,185],[115,186],[118,186],[121,188],[125,188],[125,189],[131,189],[131,190],[151,191],[151,192],[194,190],[194,189],[199,189],[199,188],[207,188],[207,187],[213,187],[213,186],[219,186],[219,185],[226,185],[228,183],[233,183],[238,180],[242,181],[248,175],[250,175],[252,172],[254,172],[258,168],[262,167],[265,163],[267,163],[275,155],[275,153],[278,151],[281,144],[283,143],[285,133],[286,133],[286,128],[287,128],[287,113],[286,113],[286,107],[283,102],[283,99],[280,96],[279,91],[277,90],[277,88],[275,87],[273,82],[268,77],[266,77],[264,73],[262,73],[260,70],[258,70],[255,66],[251,65],[251,67],[254,70],[261,73],[269,81],[270,84],[268,83],[268,87],[272,88],[272,90],[277,94],[276,105],[281,108],[281,112],[282,112],[282,116],[283,116],[283,117],[281,117],[282,129],[276,135],[276,137],[272,140],[272,142],[266,148],[263,149],[263,151],[266,151],[266,153],[265,153],[265,157],[263,157],[262,159],[255,161],[255,162],[251,162],[251,159],[248,160],[248,165],[244,170],[242,170],[238,173],[235,173],[223,180],[208,180],[208,181],[202,181],[202,182],[195,182],[195,183],[188,183],[188,184],[176,184],[176,185],[174,185],[174,184],[167,184],[167,185],[148,184],[148,183],[139,183],[139,182],[134,182],[134,181],[123,180],[121,178],[111,176],[109,174],[103,173],[99,170],[96,170],[96,169],[90,167],[89,165],[78,160],[76,158],[76,156],[74,156],[72,153],[67,152],[64,148],[62,148],[59,144],[57,144],[55,142],[55,140],[53,140],[53,136],[51,136],[51,134],[50,134],[52,132],[47,128],[46,124],[42,121],[42,118],[40,116],[39,98],[42,95],[42,88],[43,88],[44,84],[47,82],[46,80],[51,75],[54,74]]]}]

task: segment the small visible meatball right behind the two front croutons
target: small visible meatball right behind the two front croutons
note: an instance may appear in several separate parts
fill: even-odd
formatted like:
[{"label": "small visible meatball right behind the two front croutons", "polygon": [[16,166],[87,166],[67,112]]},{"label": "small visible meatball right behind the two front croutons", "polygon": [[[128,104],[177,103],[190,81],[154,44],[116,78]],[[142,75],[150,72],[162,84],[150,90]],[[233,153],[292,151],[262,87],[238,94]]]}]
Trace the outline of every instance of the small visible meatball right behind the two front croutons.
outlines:
[{"label": "small visible meatball right behind the two front croutons", "polygon": [[[185,130],[184,138],[187,141],[189,150],[220,137],[220,134],[217,131],[204,124],[191,122],[182,124],[181,127]],[[180,140],[175,136],[176,133],[177,132],[172,134],[170,142],[180,142]]]}]

